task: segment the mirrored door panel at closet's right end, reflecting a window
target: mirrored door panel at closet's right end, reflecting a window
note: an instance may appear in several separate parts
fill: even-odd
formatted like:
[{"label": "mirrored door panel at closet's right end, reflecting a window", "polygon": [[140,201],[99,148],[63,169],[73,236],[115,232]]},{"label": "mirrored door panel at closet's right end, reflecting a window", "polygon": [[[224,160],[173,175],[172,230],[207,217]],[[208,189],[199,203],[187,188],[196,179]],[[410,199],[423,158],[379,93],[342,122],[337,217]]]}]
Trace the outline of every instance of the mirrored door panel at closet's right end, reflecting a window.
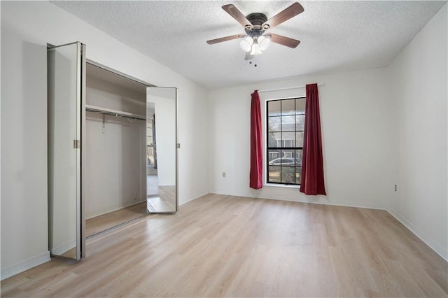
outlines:
[{"label": "mirrored door panel at closet's right end, reflecting a window", "polygon": [[177,199],[176,88],[148,87],[146,179],[148,213],[172,213]]}]

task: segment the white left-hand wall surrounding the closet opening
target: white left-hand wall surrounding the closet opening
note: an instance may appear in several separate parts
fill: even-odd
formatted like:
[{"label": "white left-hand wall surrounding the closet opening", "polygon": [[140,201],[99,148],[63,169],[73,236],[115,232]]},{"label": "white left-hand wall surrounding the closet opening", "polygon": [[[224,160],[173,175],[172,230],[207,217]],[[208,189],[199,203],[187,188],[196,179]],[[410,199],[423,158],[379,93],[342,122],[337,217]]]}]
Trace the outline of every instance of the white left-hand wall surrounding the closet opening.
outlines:
[{"label": "white left-hand wall surrounding the closet opening", "polygon": [[[87,59],[178,87],[179,202],[208,192],[207,92],[46,1],[1,1],[1,278],[48,260],[46,45],[80,41]],[[191,171],[195,175],[191,175]]]}]

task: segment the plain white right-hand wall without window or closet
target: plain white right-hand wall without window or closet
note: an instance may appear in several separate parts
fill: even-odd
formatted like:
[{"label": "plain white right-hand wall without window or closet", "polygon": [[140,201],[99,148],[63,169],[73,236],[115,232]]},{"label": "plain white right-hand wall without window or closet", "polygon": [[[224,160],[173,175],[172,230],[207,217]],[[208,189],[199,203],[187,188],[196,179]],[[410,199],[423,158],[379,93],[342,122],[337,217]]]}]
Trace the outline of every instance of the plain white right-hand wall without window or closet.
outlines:
[{"label": "plain white right-hand wall without window or closet", "polygon": [[447,4],[388,66],[396,218],[448,259]]}]

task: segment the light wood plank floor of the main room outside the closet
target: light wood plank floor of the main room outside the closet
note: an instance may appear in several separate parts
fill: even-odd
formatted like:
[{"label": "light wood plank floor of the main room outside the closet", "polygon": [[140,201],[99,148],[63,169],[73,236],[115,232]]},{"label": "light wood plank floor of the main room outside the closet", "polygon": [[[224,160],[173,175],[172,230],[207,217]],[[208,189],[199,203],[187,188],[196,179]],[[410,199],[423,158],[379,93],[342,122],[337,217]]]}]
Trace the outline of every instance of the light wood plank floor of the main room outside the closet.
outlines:
[{"label": "light wood plank floor of the main room outside the closet", "polygon": [[447,262],[386,211],[217,194],[87,241],[1,297],[447,297]]}]

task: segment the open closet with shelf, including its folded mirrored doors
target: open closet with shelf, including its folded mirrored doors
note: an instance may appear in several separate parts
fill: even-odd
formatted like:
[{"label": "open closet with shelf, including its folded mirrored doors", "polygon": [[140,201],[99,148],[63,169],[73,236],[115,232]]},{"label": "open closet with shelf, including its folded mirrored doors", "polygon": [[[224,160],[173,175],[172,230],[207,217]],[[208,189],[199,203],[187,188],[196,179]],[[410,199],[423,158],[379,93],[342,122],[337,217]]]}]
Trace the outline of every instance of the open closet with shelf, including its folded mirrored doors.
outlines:
[{"label": "open closet with shelf, including its folded mirrored doors", "polygon": [[48,232],[52,255],[147,213],[178,211],[177,90],[48,47]]}]

